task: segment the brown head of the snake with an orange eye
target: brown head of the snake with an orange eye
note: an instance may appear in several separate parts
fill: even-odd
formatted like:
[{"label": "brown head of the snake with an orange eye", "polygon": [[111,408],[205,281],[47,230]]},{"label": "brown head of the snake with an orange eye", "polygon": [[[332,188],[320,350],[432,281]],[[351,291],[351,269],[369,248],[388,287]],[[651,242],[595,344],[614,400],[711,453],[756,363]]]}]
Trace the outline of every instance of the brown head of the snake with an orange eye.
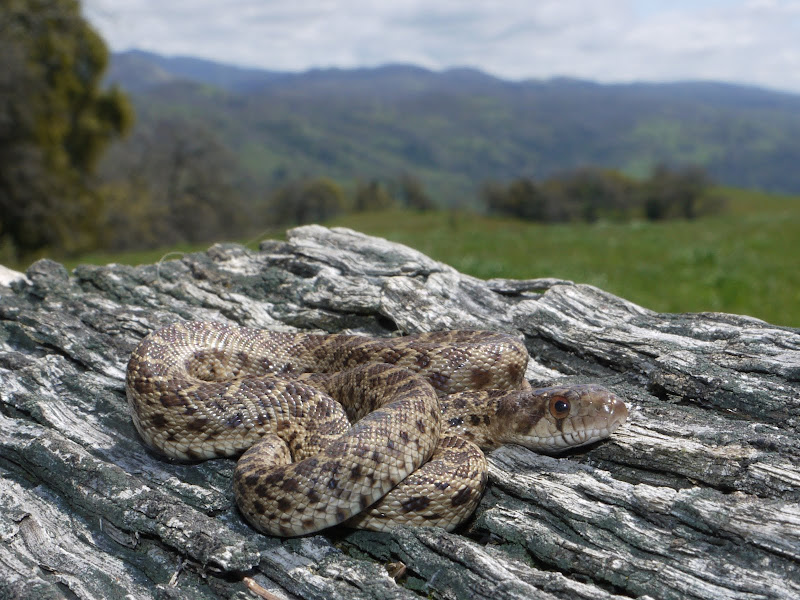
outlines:
[{"label": "brown head of the snake with an orange eye", "polygon": [[532,450],[566,450],[607,438],[627,418],[625,403],[602,386],[539,388],[499,399],[495,439]]}]

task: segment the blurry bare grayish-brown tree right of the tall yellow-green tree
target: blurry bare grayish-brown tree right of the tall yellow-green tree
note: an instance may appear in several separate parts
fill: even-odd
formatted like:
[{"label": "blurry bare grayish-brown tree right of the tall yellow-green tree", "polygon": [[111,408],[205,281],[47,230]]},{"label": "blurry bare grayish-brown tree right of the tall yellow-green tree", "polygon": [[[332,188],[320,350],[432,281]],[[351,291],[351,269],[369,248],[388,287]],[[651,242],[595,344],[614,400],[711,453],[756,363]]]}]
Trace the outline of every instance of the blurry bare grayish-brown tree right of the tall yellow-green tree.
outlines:
[{"label": "blurry bare grayish-brown tree right of the tall yellow-green tree", "polygon": [[100,173],[108,247],[208,242],[252,230],[237,163],[202,125],[181,118],[142,124],[107,158]]}]

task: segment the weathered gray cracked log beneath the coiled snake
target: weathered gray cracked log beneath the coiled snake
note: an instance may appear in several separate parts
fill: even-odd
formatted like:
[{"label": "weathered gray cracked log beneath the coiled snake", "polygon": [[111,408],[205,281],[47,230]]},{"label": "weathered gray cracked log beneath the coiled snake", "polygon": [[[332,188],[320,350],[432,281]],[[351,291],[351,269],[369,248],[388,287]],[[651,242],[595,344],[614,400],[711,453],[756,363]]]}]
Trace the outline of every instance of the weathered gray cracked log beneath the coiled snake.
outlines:
[{"label": "weathered gray cracked log beneath the coiled snake", "polygon": [[[259,252],[26,275],[0,286],[0,597],[800,598],[798,330],[481,281],[318,226]],[[130,351],[177,319],[508,331],[534,385],[601,382],[631,415],[569,456],[495,451],[456,533],[269,538],[236,512],[233,461],[164,460],[128,416]]]}]

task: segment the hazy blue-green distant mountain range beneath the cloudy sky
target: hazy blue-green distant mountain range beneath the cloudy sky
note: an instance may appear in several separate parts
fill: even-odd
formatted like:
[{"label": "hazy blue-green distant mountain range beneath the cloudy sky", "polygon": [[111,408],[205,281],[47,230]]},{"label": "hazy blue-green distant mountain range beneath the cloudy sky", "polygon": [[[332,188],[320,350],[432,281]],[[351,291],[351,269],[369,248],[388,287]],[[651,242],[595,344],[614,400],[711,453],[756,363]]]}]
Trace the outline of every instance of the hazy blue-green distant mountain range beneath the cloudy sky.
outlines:
[{"label": "hazy blue-green distant mountain range beneath the cloudy sky", "polygon": [[281,73],[141,51],[107,76],[140,122],[201,124],[258,186],[413,173],[442,204],[483,181],[579,166],[644,175],[699,164],[718,182],[800,193],[800,95],[709,82],[511,82],[390,65]]}]

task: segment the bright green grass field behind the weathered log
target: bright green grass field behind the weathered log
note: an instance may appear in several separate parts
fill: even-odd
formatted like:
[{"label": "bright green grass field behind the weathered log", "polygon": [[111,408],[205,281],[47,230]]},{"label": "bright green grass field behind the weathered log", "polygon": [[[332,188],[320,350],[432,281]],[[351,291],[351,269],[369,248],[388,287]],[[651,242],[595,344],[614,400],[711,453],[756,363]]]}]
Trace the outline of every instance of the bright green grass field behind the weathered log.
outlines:
[{"label": "bright green grass field behind the weathered log", "polygon": [[[348,215],[326,225],[406,244],[481,278],[559,277],[657,311],[732,312],[800,327],[800,198],[741,190],[725,195],[724,216],[695,221],[538,225],[398,211]],[[66,264],[150,263],[165,252],[95,254]]]}]

